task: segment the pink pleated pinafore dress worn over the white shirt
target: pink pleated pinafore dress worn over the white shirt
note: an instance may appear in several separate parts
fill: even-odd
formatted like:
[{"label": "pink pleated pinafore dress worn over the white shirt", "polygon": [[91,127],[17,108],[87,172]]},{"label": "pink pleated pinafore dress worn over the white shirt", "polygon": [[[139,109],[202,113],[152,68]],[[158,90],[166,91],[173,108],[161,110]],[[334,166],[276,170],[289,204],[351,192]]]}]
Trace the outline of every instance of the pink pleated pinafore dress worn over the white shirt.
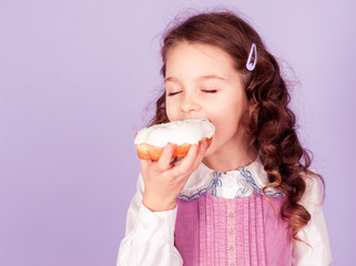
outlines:
[{"label": "pink pleated pinafore dress worn over the white shirt", "polygon": [[279,218],[284,197],[254,193],[222,198],[205,193],[176,200],[175,247],[184,266],[289,266],[291,231]]}]

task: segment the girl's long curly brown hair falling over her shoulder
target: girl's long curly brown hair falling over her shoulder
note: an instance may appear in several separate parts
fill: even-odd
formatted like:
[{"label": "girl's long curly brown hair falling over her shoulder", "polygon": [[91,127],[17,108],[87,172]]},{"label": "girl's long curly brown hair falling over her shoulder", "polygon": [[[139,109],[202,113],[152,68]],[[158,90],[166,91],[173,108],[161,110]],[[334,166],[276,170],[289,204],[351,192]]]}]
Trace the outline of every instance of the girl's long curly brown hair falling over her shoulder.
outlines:
[{"label": "girl's long curly brown hair falling over her shoulder", "polygon": [[[250,101],[247,134],[250,145],[258,151],[269,184],[285,195],[281,217],[292,229],[292,241],[302,241],[296,234],[311,219],[311,214],[298,202],[306,190],[306,176],[319,178],[309,171],[309,151],[303,149],[296,134],[296,117],[288,108],[291,95],[275,58],[266,50],[257,32],[232,11],[195,14],[169,29],[163,37],[161,55],[162,75],[165,78],[167,52],[182,41],[211,44],[231,55],[243,79]],[[252,43],[257,48],[257,63],[246,69]],[[169,122],[165,93],[156,101],[152,124]],[[266,194],[265,194],[266,196]]]}]

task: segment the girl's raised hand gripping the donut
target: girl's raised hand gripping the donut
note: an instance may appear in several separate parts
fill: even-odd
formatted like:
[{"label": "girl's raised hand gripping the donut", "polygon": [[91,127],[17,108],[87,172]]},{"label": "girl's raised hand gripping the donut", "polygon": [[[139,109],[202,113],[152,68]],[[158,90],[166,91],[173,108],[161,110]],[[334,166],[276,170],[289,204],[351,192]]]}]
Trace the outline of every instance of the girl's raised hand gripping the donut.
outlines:
[{"label": "girl's raised hand gripping the donut", "polygon": [[141,160],[144,183],[142,203],[152,212],[173,209],[176,196],[204,158],[206,149],[206,142],[202,142],[200,146],[193,144],[182,162],[172,165],[173,145],[169,143],[159,161]]}]

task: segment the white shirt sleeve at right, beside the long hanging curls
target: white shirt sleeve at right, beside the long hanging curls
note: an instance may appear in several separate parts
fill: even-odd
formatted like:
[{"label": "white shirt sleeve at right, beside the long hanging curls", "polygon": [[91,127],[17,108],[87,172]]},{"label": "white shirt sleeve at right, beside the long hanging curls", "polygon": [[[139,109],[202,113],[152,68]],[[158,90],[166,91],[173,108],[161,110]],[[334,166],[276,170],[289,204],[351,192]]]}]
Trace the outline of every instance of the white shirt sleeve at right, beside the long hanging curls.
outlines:
[{"label": "white shirt sleeve at right, beside the long hanging curls", "polygon": [[322,209],[318,178],[306,177],[306,192],[299,203],[311,214],[311,221],[297,233],[297,236],[311,246],[302,242],[296,242],[296,248],[293,252],[293,265],[327,266],[332,263],[332,253]]}]

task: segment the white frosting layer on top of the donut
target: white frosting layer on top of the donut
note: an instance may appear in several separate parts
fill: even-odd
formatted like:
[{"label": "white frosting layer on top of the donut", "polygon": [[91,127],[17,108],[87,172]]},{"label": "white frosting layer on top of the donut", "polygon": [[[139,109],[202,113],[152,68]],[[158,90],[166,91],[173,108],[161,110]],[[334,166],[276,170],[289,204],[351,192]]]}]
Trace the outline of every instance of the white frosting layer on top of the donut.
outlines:
[{"label": "white frosting layer on top of the donut", "polygon": [[169,142],[177,145],[199,143],[210,139],[215,133],[215,126],[206,119],[180,120],[171,123],[156,124],[139,131],[134,144],[146,143],[153,146],[165,146]]}]

